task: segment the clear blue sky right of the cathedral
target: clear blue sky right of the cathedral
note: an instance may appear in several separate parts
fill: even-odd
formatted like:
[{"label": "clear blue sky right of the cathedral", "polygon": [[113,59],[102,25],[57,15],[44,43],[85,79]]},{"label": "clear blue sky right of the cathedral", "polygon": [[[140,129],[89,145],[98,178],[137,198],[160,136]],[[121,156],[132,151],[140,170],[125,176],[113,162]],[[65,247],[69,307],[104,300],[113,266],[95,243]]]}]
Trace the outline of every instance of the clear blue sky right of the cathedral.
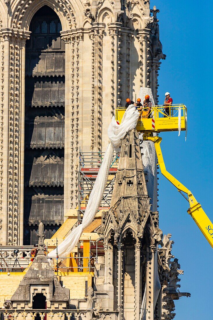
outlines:
[{"label": "clear blue sky right of the cathedral", "polygon": [[[189,188],[213,221],[212,174],[212,4],[209,0],[151,0],[160,10],[157,17],[163,53],[159,72],[159,104],[169,91],[173,103],[188,108],[188,134],[161,134],[167,170]],[[171,233],[172,253],[184,275],[182,292],[191,298],[175,301],[176,320],[212,318],[213,249],[188,215],[188,203],[159,174],[159,224]]]}]

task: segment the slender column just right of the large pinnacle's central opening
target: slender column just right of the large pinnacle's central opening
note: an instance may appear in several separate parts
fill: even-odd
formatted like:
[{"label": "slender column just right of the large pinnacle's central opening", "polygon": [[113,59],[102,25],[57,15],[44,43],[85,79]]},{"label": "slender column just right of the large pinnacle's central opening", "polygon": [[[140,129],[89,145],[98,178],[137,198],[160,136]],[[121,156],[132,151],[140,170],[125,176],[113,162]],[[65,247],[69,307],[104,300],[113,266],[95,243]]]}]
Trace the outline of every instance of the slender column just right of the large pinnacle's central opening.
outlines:
[{"label": "slender column just right of the large pinnacle's central opening", "polygon": [[141,244],[135,245],[135,319],[139,320],[140,317],[140,248]]}]

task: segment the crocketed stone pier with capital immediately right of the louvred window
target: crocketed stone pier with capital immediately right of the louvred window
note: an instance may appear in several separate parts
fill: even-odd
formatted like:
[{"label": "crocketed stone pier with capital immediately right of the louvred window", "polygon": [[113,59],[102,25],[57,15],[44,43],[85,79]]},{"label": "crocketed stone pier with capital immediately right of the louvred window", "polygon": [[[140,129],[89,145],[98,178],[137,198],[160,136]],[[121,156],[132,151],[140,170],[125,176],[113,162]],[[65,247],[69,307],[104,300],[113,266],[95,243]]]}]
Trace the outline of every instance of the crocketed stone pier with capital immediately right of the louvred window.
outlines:
[{"label": "crocketed stone pier with capital immediately right of the louvred window", "polygon": [[[64,213],[78,204],[79,35],[61,32],[65,41]],[[81,106],[82,108],[82,106]]]}]

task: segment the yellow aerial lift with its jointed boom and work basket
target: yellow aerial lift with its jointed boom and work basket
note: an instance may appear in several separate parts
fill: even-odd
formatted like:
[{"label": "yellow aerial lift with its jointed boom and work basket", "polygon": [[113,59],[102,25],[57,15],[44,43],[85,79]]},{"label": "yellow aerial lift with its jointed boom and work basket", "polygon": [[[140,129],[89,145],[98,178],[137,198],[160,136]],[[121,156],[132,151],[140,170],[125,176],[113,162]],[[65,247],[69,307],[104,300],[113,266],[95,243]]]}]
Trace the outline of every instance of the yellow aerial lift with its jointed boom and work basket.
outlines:
[{"label": "yellow aerial lift with its jointed boom and work basket", "polygon": [[[203,211],[201,204],[197,202],[191,191],[187,189],[182,183],[180,183],[166,170],[160,147],[162,138],[159,136],[153,136],[153,132],[158,133],[165,131],[186,130],[186,107],[184,105],[171,105],[169,108],[170,112],[168,114],[165,113],[163,106],[153,106],[150,110],[149,115],[143,111],[139,116],[136,129],[140,132],[143,132],[143,140],[149,140],[154,142],[161,173],[177,188],[177,190],[189,202],[190,208],[187,210],[187,212],[191,215],[191,217],[201,230],[202,234],[205,236],[205,238],[213,248],[212,222],[209,220],[208,216]],[[117,108],[115,117],[118,123],[120,123],[120,121],[122,120],[124,112],[125,108]],[[186,193],[187,197],[182,192]]]}]

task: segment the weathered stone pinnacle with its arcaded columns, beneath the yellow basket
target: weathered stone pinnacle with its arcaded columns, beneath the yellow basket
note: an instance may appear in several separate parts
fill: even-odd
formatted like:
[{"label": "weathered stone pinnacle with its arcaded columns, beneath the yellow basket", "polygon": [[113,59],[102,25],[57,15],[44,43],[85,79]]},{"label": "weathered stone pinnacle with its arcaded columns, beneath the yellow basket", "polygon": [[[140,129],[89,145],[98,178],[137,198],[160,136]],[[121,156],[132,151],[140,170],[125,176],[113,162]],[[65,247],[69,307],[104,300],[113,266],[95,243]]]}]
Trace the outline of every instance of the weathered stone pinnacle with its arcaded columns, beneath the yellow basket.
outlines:
[{"label": "weathered stone pinnacle with its arcaded columns, beneath the yellow basket", "polygon": [[[139,143],[136,130],[121,142],[111,206],[97,231],[105,246],[107,308],[118,308],[122,320],[139,319],[143,296],[154,320],[154,252],[162,240],[158,212],[150,211]],[[155,284],[160,290],[159,281]],[[103,291],[98,283],[96,290]],[[105,296],[98,293],[95,308],[103,305]]]}]

